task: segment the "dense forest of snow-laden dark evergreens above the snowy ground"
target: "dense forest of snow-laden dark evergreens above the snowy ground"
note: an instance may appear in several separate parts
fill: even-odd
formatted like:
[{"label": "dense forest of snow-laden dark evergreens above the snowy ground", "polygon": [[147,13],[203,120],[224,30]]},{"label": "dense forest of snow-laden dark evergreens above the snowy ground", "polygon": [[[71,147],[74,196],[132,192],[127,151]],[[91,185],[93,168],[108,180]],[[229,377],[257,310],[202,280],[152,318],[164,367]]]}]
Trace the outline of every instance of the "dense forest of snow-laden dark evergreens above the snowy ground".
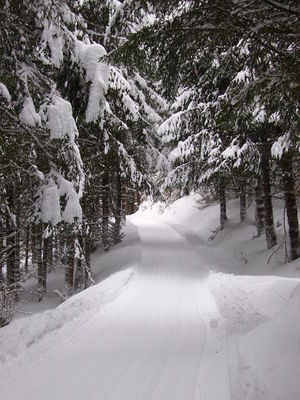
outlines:
[{"label": "dense forest of snow-laden dark evergreens above the snowy ground", "polygon": [[64,297],[93,283],[90,255],[122,240],[151,194],[256,204],[300,255],[298,1],[0,1],[0,303],[21,279]]}]

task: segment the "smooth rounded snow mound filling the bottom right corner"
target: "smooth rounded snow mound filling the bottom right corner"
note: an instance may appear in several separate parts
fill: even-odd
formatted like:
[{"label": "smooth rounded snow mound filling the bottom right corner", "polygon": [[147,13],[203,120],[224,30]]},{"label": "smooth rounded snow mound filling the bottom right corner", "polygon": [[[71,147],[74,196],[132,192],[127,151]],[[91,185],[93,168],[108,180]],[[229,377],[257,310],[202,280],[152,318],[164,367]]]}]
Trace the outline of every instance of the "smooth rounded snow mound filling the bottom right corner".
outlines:
[{"label": "smooth rounded snow mound filling the bottom right corner", "polygon": [[266,397],[270,400],[299,398],[299,309],[300,285],[274,318],[238,340],[240,357],[246,360],[247,375],[255,373],[260,377],[265,393],[273,393],[273,398]]}]

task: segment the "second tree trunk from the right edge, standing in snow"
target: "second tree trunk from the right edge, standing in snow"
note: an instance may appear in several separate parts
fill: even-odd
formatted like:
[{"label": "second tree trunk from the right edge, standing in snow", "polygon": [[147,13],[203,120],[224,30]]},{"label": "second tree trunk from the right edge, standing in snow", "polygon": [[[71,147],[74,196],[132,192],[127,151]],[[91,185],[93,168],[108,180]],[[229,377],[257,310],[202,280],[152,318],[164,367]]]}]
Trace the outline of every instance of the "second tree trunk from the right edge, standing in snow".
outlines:
[{"label": "second tree trunk from the right edge, standing in snow", "polygon": [[276,233],[274,228],[273,218],[273,205],[271,195],[271,179],[270,179],[270,148],[267,145],[261,146],[261,170],[263,178],[263,189],[264,189],[264,217],[265,217],[265,234],[267,241],[267,248],[271,249],[276,245]]}]

